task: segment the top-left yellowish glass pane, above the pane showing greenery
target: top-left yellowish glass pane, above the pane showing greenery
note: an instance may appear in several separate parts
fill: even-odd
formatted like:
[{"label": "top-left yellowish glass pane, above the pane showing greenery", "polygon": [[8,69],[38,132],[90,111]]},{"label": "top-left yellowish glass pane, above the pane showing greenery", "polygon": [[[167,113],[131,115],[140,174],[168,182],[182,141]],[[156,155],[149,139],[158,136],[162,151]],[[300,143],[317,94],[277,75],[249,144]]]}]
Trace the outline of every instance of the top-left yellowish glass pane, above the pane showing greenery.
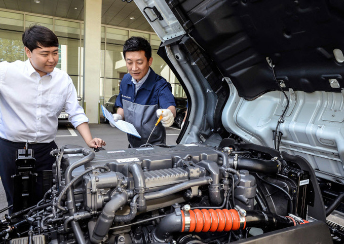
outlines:
[{"label": "top-left yellowish glass pane, above the pane showing greenery", "polygon": [[23,31],[24,15],[0,11],[0,29]]}]

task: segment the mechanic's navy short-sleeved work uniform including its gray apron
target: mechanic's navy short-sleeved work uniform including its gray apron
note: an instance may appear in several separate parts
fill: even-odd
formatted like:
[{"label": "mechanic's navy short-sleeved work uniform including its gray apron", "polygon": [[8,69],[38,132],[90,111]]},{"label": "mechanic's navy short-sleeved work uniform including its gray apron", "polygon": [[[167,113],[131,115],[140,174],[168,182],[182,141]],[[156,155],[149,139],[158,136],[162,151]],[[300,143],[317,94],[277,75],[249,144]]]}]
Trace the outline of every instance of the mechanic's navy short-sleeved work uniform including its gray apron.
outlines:
[{"label": "mechanic's navy short-sleeved work uniform including its gray apron", "polygon": [[124,110],[124,120],[133,124],[141,138],[128,134],[131,147],[143,144],[166,144],[166,130],[161,123],[153,130],[158,120],[157,109],[176,106],[172,87],[163,77],[151,68],[150,73],[135,95],[135,84],[130,74],[126,74],[120,85],[120,93],[116,99],[116,107]]}]

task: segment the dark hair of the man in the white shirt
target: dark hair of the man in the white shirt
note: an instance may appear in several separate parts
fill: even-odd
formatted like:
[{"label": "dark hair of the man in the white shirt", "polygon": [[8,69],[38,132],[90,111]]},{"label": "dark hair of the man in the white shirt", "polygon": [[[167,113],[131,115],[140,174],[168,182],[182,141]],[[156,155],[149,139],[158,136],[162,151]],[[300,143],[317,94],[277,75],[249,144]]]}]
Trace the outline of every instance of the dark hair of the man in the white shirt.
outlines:
[{"label": "dark hair of the man in the white shirt", "polygon": [[53,31],[42,25],[32,25],[22,36],[23,44],[31,52],[41,47],[58,47],[59,41]]}]

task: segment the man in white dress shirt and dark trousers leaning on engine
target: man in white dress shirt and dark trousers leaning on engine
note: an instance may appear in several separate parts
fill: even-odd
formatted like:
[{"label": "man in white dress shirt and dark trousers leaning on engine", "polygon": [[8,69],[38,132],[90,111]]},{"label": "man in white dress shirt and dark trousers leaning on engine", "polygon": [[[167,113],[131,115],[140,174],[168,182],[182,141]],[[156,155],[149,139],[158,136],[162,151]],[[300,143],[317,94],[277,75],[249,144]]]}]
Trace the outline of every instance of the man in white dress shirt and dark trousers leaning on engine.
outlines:
[{"label": "man in white dress shirt and dark trousers leaning on engine", "polygon": [[16,172],[16,152],[26,142],[34,151],[36,193],[37,199],[42,199],[42,171],[51,170],[55,161],[50,152],[57,148],[54,140],[63,107],[90,148],[106,145],[100,138],[92,138],[71,78],[55,68],[59,58],[55,34],[34,25],[22,38],[28,60],[0,62],[0,177],[9,205],[13,203],[11,176]]}]

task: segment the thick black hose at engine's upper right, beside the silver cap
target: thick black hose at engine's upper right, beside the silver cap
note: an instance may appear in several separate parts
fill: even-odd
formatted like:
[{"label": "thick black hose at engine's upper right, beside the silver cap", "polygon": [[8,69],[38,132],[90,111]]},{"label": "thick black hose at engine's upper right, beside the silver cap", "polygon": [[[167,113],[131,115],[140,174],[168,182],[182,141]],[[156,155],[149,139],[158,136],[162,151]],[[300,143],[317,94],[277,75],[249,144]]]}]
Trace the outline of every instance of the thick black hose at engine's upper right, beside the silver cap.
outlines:
[{"label": "thick black hose at engine's upper right, beside the silver cap", "polygon": [[266,175],[276,175],[280,172],[281,166],[275,160],[263,160],[258,158],[238,158],[237,169],[246,169]]}]

